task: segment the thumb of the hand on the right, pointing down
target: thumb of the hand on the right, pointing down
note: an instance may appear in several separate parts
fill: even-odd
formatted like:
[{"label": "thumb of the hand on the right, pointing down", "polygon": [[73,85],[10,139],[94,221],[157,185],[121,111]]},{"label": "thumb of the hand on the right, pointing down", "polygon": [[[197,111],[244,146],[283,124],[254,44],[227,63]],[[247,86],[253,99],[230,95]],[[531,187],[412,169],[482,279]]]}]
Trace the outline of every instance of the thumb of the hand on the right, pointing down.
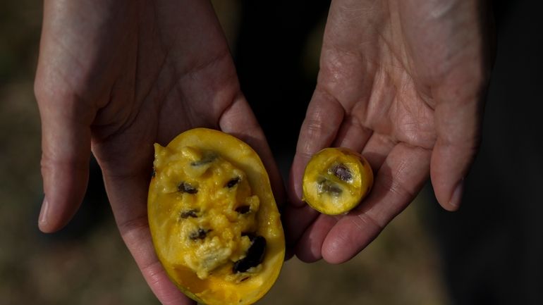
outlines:
[{"label": "thumb of the hand on the right, pointing down", "polygon": [[432,186],[446,210],[460,206],[463,180],[480,144],[481,110],[477,101],[462,106],[441,103],[435,110],[437,141],[432,153]]}]

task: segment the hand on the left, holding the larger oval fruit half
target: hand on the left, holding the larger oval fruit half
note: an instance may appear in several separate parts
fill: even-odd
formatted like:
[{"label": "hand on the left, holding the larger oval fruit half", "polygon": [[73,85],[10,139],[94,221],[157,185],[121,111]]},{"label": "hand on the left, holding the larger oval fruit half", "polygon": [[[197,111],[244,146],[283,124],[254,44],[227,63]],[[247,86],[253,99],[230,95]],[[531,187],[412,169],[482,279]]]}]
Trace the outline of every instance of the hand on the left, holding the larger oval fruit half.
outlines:
[{"label": "hand on the left, holding the larger oval fruit half", "polygon": [[208,1],[47,0],[35,92],[42,118],[44,232],[73,216],[97,158],[124,242],[162,304],[192,304],[154,254],[147,223],[153,143],[220,128],[262,157],[282,184],[240,92]]}]

